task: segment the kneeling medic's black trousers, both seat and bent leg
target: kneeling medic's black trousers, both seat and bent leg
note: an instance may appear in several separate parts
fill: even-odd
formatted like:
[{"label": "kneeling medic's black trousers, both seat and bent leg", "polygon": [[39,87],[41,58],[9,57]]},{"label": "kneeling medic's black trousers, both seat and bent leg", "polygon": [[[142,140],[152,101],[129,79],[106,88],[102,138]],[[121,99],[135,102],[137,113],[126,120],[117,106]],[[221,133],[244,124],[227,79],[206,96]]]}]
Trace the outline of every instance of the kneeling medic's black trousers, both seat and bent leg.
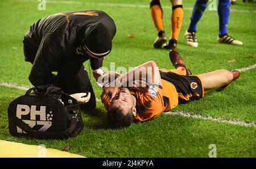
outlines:
[{"label": "kneeling medic's black trousers, both seat and bent leg", "polygon": [[[27,33],[28,34],[28,33]],[[34,63],[36,53],[38,51],[38,43],[28,43],[26,36],[23,40],[23,50],[25,61]],[[36,45],[38,44],[38,45]],[[101,63],[102,64],[102,63]],[[98,64],[100,65],[100,64]],[[96,66],[98,66],[96,65]],[[55,71],[55,70],[53,70]],[[54,84],[63,89],[67,94],[75,94],[78,92],[90,92],[90,100],[86,104],[81,104],[82,109],[96,108],[96,97],[93,91],[90,78],[84,65],[76,60],[63,60],[56,69],[57,75],[49,73],[44,79],[46,84]]]}]

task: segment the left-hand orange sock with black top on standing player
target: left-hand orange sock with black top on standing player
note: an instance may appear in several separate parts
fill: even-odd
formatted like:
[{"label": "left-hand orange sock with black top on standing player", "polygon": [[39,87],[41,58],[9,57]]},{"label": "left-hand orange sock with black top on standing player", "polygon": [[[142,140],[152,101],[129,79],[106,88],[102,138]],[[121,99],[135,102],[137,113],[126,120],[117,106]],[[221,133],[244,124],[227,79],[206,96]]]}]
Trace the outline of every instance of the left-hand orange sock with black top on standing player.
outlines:
[{"label": "left-hand orange sock with black top on standing player", "polygon": [[159,1],[150,2],[150,14],[157,31],[163,31],[163,10]]}]

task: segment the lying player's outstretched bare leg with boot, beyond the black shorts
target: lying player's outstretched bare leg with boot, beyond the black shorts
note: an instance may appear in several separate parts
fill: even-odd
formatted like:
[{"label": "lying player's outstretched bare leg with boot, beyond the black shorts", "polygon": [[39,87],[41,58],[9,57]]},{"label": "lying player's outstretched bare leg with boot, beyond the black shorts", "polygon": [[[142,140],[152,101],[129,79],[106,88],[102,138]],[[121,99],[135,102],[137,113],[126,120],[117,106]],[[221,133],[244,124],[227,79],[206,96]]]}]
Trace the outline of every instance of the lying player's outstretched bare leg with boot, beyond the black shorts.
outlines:
[{"label": "lying player's outstretched bare leg with boot, beyond the black shorts", "polygon": [[204,93],[227,87],[232,81],[240,76],[239,71],[228,71],[225,69],[211,71],[197,75],[204,86]]}]

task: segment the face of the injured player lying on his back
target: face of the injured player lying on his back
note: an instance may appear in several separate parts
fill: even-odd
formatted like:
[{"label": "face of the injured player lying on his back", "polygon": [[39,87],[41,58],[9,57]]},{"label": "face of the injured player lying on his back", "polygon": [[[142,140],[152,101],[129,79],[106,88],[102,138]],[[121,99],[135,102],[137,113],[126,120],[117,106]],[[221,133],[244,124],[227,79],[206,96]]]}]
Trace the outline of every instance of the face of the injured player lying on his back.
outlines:
[{"label": "face of the injured player lying on his back", "polygon": [[117,94],[113,97],[113,99],[110,101],[109,109],[112,109],[114,107],[122,107],[125,112],[128,113],[129,109],[134,107],[134,96],[131,95],[130,91],[126,87],[122,87]]}]

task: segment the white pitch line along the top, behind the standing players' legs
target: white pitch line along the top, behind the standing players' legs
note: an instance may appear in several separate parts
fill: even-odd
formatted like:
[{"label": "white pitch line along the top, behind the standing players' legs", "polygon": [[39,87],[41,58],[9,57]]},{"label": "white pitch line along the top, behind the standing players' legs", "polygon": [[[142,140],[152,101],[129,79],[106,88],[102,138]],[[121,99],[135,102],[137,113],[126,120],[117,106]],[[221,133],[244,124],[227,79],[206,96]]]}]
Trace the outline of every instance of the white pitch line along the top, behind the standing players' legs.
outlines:
[{"label": "white pitch line along the top, behind the standing players' legs", "polygon": [[[36,2],[39,1],[35,0],[19,0],[24,2]],[[70,4],[70,5],[93,5],[93,6],[112,6],[112,7],[134,7],[134,8],[146,8],[149,9],[149,5],[135,5],[135,4],[123,4],[123,3],[100,3],[100,2],[76,2],[76,1],[49,1],[47,0],[46,3],[62,3],[62,4]],[[172,9],[170,6],[162,6],[163,9]],[[184,10],[192,11],[193,7],[183,7]],[[214,11],[214,10],[209,10]],[[217,11],[217,10],[215,10]],[[242,12],[242,13],[256,13],[256,10],[236,10],[230,9],[232,12]]]}]

